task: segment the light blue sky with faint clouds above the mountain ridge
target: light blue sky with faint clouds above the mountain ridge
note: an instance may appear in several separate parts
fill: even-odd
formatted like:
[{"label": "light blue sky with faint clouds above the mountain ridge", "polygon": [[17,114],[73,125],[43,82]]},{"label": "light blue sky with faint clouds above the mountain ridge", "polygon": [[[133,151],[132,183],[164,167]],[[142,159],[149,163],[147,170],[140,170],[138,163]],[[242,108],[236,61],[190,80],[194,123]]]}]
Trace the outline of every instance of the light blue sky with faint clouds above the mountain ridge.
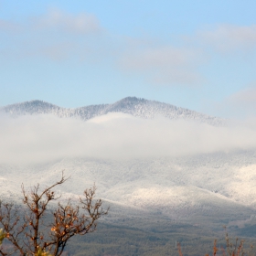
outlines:
[{"label": "light blue sky with faint clouds above the mountain ridge", "polygon": [[127,96],[256,113],[255,1],[0,0],[0,106]]}]

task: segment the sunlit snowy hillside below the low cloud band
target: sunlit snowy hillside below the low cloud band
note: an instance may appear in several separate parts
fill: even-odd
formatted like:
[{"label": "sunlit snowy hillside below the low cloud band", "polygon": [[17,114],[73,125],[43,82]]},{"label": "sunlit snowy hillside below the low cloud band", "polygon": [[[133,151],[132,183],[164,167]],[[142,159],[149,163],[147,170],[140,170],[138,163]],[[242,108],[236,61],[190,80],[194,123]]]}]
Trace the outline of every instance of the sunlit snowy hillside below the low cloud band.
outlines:
[{"label": "sunlit snowy hillside below the low cloud band", "polygon": [[[63,198],[77,198],[95,182],[97,195],[117,208],[155,212],[170,219],[229,216],[244,220],[256,206],[255,168],[254,152],[129,161],[67,158],[45,165],[1,165],[0,184],[2,197],[16,198],[21,182],[26,187],[37,183],[45,187],[65,170],[71,178],[59,187]],[[118,216],[115,211],[112,215]]]}]

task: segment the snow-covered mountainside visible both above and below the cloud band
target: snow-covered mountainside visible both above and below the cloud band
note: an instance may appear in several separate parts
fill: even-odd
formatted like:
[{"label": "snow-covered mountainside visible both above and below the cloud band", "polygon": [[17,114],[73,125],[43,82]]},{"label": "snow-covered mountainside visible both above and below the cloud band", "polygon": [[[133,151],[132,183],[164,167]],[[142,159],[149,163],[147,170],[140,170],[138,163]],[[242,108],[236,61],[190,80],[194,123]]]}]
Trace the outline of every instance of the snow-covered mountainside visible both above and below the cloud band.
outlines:
[{"label": "snow-covered mountainside visible both above and below the cloud band", "polygon": [[[128,97],[113,104],[65,109],[45,101],[27,101],[2,108],[19,115],[53,114],[59,118],[80,118],[94,123],[104,121],[104,114],[122,112],[144,119],[157,116],[223,125],[225,120],[189,111],[158,101]],[[112,118],[119,117],[118,113]],[[65,170],[70,179],[61,187],[63,198],[78,198],[86,187],[96,184],[97,196],[117,206],[148,212],[160,210],[166,216],[188,216],[195,211],[225,211],[225,208],[256,206],[255,150],[216,152],[176,157],[141,157],[102,159],[59,157],[39,164],[1,164],[1,197],[18,201],[21,184],[46,187]],[[128,214],[128,213],[127,213]]]}]

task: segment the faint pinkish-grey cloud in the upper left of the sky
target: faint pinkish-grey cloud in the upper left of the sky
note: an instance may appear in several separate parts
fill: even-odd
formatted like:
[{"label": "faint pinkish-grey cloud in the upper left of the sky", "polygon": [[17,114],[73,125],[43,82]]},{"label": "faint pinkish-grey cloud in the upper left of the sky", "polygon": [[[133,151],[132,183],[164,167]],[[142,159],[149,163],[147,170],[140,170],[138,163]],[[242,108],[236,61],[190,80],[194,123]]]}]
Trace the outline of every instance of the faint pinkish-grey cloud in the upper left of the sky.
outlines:
[{"label": "faint pinkish-grey cloud in the upper left of the sky", "polygon": [[[97,59],[97,48],[103,29],[96,16],[86,13],[71,15],[58,9],[19,23],[0,20],[0,33],[5,35],[2,55],[8,59],[43,57],[51,60]],[[9,32],[16,33],[9,33]],[[94,58],[95,57],[95,58]]]}]

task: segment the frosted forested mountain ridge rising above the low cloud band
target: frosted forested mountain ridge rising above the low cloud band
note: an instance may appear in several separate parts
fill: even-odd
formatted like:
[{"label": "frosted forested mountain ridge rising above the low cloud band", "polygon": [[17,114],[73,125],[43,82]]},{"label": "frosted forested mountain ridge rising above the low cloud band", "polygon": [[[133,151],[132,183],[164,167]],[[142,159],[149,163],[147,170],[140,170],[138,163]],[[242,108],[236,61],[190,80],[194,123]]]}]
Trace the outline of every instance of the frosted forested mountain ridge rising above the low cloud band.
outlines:
[{"label": "frosted forested mountain ridge rising above the low cloud band", "polygon": [[211,125],[222,125],[225,123],[223,119],[218,117],[193,112],[159,101],[147,101],[136,97],[127,97],[112,104],[90,105],[76,109],[61,108],[45,101],[26,101],[5,106],[1,108],[1,111],[12,115],[50,113],[58,117],[78,117],[84,121],[109,112],[123,112],[147,119],[153,119],[155,116],[164,116],[173,120],[194,120]]}]

